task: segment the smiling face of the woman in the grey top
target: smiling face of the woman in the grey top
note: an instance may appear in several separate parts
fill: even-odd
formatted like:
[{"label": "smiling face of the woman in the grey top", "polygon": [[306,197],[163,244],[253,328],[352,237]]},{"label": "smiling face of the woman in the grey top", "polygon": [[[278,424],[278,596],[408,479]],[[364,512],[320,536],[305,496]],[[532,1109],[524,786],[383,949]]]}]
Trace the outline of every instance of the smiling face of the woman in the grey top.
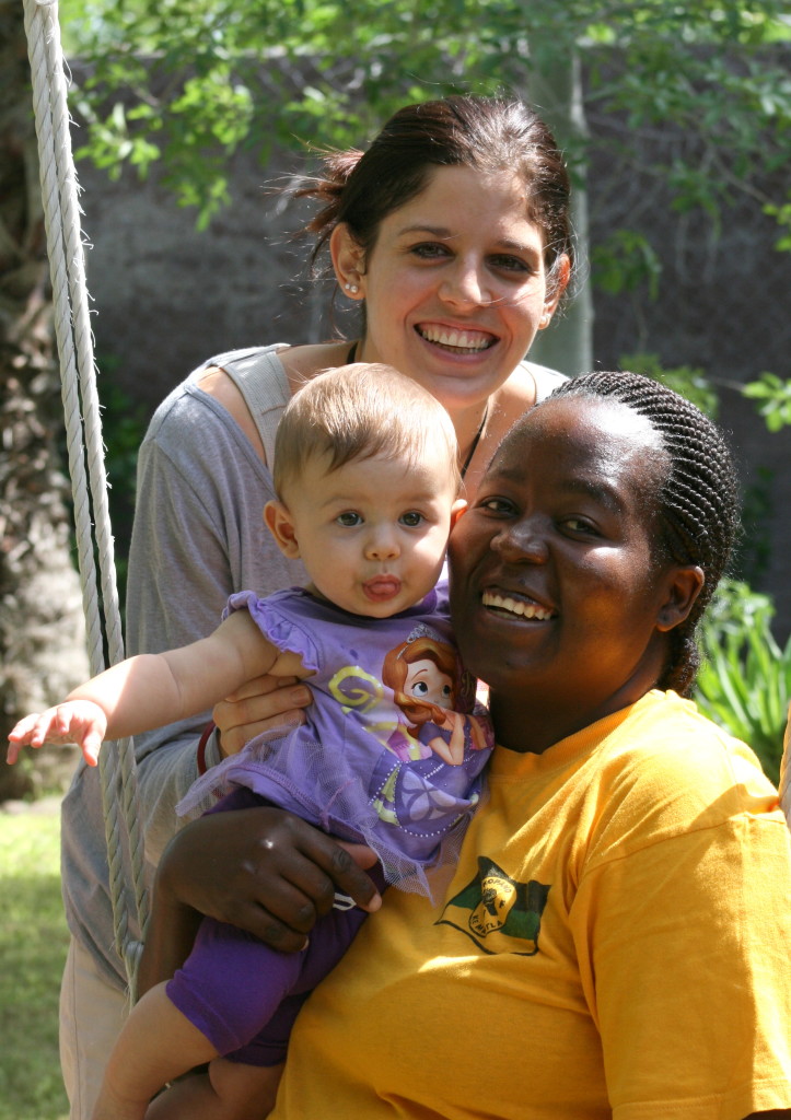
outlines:
[{"label": "smiling face of the woman in the grey top", "polygon": [[543,250],[518,175],[436,168],[367,258],[345,226],[333,236],[336,270],[355,271],[366,305],[357,357],[394,365],[454,417],[480,408],[551,319],[560,292]]}]

